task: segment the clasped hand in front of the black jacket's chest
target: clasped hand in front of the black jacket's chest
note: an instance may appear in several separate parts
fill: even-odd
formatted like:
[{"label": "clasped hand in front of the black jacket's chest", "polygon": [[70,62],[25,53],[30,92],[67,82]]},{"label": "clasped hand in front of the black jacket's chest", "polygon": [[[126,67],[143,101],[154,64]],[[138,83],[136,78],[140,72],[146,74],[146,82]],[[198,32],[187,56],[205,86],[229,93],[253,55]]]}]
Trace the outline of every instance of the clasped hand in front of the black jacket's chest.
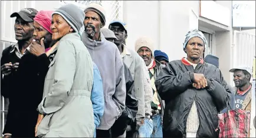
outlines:
[{"label": "clasped hand in front of the black jacket's chest", "polygon": [[207,80],[204,74],[194,73],[195,82],[192,84],[194,88],[200,89],[208,86]]}]

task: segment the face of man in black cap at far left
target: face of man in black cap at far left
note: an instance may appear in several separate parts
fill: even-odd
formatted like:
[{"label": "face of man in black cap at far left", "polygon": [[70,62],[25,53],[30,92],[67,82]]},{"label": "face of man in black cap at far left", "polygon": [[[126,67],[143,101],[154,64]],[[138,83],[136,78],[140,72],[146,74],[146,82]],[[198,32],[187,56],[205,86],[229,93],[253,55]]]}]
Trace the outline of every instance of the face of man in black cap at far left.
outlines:
[{"label": "face of man in black cap at far left", "polygon": [[15,19],[14,31],[16,40],[29,40],[33,37],[33,22],[27,22],[24,21],[24,19],[22,19],[21,17],[17,17]]}]

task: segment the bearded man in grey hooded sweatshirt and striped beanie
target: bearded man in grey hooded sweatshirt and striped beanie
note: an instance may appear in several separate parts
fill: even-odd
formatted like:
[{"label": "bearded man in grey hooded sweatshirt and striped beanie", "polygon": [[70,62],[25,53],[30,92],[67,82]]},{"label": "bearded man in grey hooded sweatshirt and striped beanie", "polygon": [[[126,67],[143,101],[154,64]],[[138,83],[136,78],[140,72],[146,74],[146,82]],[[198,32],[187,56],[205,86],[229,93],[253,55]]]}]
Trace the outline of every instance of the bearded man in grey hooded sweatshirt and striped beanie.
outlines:
[{"label": "bearded man in grey hooded sweatshirt and striped beanie", "polygon": [[110,128],[125,107],[126,86],[124,67],[119,50],[100,32],[106,22],[103,6],[92,3],[84,10],[85,30],[81,36],[91,58],[100,70],[104,91],[104,114],[96,137],[111,137]]}]

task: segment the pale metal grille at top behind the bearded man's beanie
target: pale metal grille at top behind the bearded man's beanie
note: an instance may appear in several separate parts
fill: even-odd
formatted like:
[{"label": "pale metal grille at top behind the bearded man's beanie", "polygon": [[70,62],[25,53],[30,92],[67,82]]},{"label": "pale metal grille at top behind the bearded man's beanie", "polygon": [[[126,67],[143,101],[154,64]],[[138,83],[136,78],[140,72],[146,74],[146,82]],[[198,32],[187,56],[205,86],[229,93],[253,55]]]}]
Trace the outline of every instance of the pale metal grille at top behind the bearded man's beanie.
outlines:
[{"label": "pale metal grille at top behind the bearded man's beanie", "polygon": [[60,1],[60,6],[65,4],[76,4],[81,9],[86,9],[86,6],[91,3],[97,3],[106,10],[106,26],[113,20],[123,20],[123,1]]}]

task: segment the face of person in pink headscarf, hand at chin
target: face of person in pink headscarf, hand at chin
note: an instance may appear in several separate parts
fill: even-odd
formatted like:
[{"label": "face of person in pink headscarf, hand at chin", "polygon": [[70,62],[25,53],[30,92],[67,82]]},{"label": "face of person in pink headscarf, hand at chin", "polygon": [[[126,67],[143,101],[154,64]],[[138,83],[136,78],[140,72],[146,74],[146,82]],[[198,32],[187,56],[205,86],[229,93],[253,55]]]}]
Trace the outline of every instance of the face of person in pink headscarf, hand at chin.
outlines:
[{"label": "face of person in pink headscarf, hand at chin", "polygon": [[50,46],[50,43],[52,41],[52,34],[47,31],[44,27],[42,27],[40,24],[38,24],[37,21],[34,21],[34,40],[40,44],[40,40],[44,38],[44,44],[45,48],[48,48],[47,46]]}]

